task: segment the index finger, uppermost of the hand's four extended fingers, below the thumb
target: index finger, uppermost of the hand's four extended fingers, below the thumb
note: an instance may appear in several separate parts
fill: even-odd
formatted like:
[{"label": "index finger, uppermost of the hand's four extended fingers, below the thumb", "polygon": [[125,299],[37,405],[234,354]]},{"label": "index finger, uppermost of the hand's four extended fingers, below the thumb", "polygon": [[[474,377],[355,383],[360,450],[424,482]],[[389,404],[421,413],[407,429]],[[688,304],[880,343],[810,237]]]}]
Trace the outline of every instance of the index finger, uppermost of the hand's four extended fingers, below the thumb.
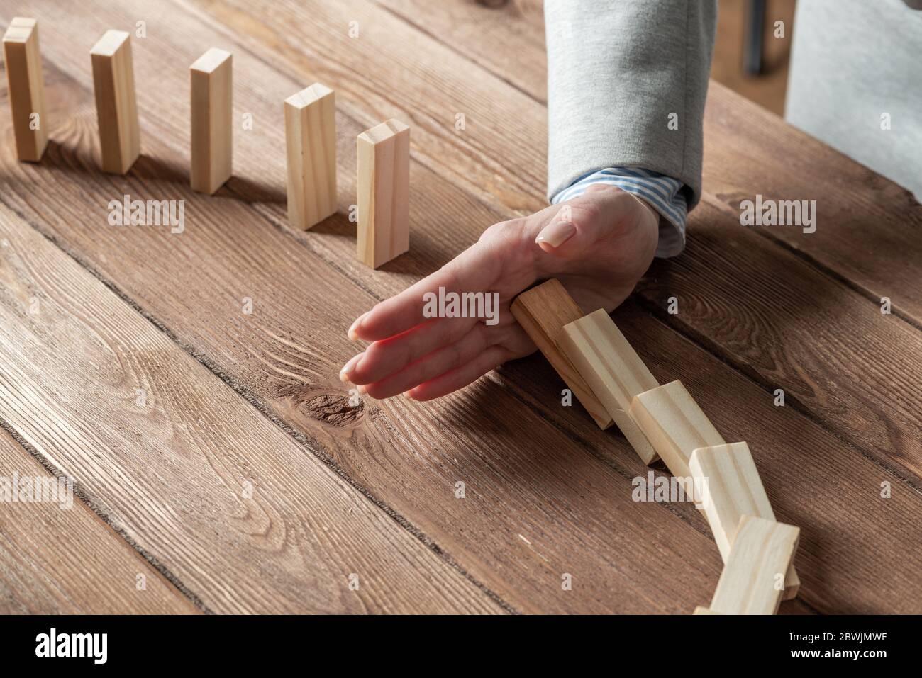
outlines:
[{"label": "index finger, uppermost of the hand's four extended fingers, below the thumb", "polygon": [[488,254],[477,244],[467,248],[432,275],[361,315],[349,328],[349,338],[379,341],[428,320],[422,314],[423,295],[427,292],[438,294],[439,287],[444,287],[446,292],[459,293],[486,289],[496,275],[497,265]]}]

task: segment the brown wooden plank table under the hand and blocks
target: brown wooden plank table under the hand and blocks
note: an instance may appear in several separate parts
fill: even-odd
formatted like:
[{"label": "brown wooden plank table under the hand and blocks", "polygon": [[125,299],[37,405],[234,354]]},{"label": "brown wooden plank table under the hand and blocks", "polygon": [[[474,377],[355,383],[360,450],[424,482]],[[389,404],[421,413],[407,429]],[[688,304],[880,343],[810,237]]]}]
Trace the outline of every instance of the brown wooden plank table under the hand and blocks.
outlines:
[{"label": "brown wooden plank table under the hand and blocks", "polygon": [[[721,562],[703,517],[632,501],[646,468],[619,433],[561,407],[543,357],[434,403],[353,408],[337,379],[361,311],[546,205],[539,10],[0,9],[2,28],[39,19],[51,138],[41,163],[19,163],[2,102],[0,475],[66,475],[77,493],[69,510],[0,505],[0,611],[709,602]],[[89,49],[139,20],[143,155],[106,175]],[[238,124],[234,177],[209,197],[188,186],[188,67],[213,46],[233,52],[235,120],[253,125]],[[302,233],[285,214],[282,100],[314,81],[337,90],[339,214]],[[348,218],[355,137],[390,117],[412,127],[410,252],[372,271]],[[800,526],[803,586],[782,612],[922,612],[922,208],[718,85],[705,134],[687,251],[655,263],[614,318],[658,380],[683,380],[727,440],[749,442],[778,519]],[[756,193],[817,200],[816,232],[741,227]],[[125,194],[184,200],[183,233],[110,226]]]}]

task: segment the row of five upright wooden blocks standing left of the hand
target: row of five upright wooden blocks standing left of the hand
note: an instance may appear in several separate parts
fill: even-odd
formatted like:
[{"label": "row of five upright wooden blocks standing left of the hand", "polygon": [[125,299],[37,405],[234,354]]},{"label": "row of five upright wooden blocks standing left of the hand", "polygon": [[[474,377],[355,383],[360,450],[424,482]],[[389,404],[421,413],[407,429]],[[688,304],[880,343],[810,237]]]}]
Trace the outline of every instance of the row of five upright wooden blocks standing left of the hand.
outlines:
[{"label": "row of five upright wooden blocks standing left of the hand", "polygon": [[[14,18],[3,42],[18,158],[38,162],[48,144],[48,123],[36,20]],[[125,174],[141,154],[130,34],[106,31],[90,59],[101,169]],[[210,195],[231,178],[232,55],[210,49],[189,71],[189,182]],[[313,84],[286,99],[284,111],[289,220],[312,228],[337,211],[334,92]],[[377,268],[409,249],[409,128],[389,120],[360,134],[357,146],[358,254]]]}]

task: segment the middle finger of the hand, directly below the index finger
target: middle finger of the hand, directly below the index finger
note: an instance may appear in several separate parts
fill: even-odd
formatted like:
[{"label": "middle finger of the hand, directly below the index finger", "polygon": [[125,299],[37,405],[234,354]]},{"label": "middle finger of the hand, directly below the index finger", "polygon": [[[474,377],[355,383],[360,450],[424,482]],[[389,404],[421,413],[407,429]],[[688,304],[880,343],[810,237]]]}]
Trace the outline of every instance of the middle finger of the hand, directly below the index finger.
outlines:
[{"label": "middle finger of the hand, directly below the index finger", "polygon": [[477,323],[476,318],[437,318],[422,322],[407,332],[374,342],[358,360],[353,358],[346,364],[340,379],[360,385],[383,380],[420,357],[455,344]]}]

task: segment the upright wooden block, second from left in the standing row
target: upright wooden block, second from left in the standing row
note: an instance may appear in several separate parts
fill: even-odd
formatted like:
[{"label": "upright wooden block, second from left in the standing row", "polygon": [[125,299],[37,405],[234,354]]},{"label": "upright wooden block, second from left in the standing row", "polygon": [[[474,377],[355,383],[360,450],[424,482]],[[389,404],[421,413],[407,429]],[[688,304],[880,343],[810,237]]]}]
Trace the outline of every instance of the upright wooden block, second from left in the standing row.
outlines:
[{"label": "upright wooden block, second from left in the standing row", "polygon": [[141,155],[131,36],[124,30],[107,30],[90,51],[90,56],[96,117],[100,124],[102,171],[126,174]]}]

